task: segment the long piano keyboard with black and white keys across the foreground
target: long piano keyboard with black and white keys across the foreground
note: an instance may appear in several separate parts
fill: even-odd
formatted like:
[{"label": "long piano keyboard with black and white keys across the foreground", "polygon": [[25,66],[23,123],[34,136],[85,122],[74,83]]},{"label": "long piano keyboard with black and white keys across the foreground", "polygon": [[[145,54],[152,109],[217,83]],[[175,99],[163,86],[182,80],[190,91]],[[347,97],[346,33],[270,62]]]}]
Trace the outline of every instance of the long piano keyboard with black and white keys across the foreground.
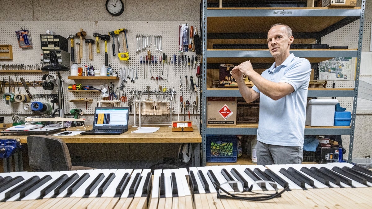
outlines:
[{"label": "long piano keyboard with black and white keys across the foreground", "polygon": [[[263,202],[218,199],[213,182],[289,186]],[[349,163],[0,173],[0,208],[370,208],[372,171]],[[224,184],[224,189],[233,191]],[[253,190],[272,190],[269,185]],[[242,194],[240,194],[242,195]],[[254,196],[260,194],[245,194]]]}]

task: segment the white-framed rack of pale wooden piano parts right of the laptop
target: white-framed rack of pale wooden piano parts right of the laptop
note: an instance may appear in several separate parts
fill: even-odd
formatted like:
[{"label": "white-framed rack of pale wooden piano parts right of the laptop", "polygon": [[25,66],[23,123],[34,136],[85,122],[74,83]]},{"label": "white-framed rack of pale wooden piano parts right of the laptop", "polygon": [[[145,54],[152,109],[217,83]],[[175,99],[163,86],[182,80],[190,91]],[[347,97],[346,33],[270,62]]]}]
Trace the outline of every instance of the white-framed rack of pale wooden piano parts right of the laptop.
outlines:
[{"label": "white-framed rack of pale wooden piano parts right of the laptop", "polygon": [[[141,125],[172,125],[172,102],[169,100],[134,100],[134,126],[141,128]],[[138,124],[137,125],[137,114]],[[141,122],[141,115],[170,115],[169,122]]]}]

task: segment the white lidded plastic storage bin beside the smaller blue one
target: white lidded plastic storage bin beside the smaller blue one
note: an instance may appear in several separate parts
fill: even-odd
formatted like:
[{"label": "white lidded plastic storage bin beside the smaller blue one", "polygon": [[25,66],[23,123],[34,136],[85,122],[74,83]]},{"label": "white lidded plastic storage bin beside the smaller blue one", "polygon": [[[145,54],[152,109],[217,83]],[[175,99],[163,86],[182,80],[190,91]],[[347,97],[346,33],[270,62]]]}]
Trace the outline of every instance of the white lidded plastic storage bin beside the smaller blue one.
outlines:
[{"label": "white lidded plastic storage bin beside the smaller blue one", "polygon": [[310,99],[306,106],[307,126],[333,126],[337,99]]}]

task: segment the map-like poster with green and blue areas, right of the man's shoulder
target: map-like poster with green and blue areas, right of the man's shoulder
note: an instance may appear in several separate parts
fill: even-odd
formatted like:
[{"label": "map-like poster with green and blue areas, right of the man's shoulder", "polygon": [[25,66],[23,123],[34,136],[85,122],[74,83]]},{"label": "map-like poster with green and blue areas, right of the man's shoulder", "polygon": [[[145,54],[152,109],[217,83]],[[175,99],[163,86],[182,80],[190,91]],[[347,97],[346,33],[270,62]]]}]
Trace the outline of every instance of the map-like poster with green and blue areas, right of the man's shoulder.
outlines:
[{"label": "map-like poster with green and blue areas, right of the man's shoulder", "polygon": [[354,80],[355,57],[336,57],[319,64],[319,80]]}]

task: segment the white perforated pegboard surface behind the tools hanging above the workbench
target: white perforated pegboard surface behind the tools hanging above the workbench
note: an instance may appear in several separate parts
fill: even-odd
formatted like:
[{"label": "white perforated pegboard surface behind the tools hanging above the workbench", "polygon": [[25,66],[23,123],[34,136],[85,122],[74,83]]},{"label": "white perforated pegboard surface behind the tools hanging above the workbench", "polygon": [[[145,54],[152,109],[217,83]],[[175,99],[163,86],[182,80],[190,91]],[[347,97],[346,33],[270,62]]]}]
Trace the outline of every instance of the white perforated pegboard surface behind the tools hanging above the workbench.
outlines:
[{"label": "white perforated pegboard surface behind the tools hanging above the workbench", "polygon": [[[131,92],[133,90],[140,90],[140,91],[147,91],[147,86],[150,86],[150,90],[158,90],[159,85],[161,87],[171,89],[174,88],[177,92],[174,96],[176,99],[174,99],[173,106],[173,112],[177,114],[179,112],[179,100],[181,96],[181,90],[180,90],[180,78],[182,79],[182,91],[183,91],[183,101],[189,100],[192,104],[194,100],[196,100],[196,96],[200,95],[199,87],[197,88],[197,91],[190,91],[186,89],[185,86],[185,77],[187,76],[188,80],[188,87],[190,87],[190,76],[193,76],[194,82],[198,82],[198,78],[196,77],[196,66],[200,65],[200,56],[198,57],[198,62],[194,63],[193,68],[184,67],[182,68],[178,66],[178,55],[187,55],[191,57],[192,55],[195,56],[195,52],[182,52],[180,53],[178,51],[178,39],[179,39],[179,32],[178,32],[178,26],[179,24],[189,24],[190,26],[194,26],[194,28],[200,28],[198,21],[115,21],[115,22],[108,22],[108,21],[92,21],[92,22],[0,22],[1,23],[1,30],[0,30],[0,43],[1,44],[9,44],[13,46],[13,60],[12,61],[0,61],[0,64],[25,64],[25,65],[35,65],[39,64],[42,59],[42,50],[41,50],[41,44],[40,44],[40,34],[46,34],[47,30],[52,30],[55,32],[55,34],[61,35],[65,38],[67,38],[69,35],[75,35],[77,32],[79,32],[80,28],[82,28],[86,33],[87,36],[86,39],[93,39],[95,40],[95,37],[93,37],[93,33],[100,33],[100,34],[108,34],[109,31],[117,30],[119,28],[126,28],[128,29],[128,32],[126,33],[127,36],[127,42],[128,42],[128,51],[129,51],[129,57],[130,60],[128,61],[120,61],[118,58],[118,43],[117,43],[117,36],[115,36],[115,48],[116,48],[116,56],[113,57],[112,55],[112,44],[113,39],[111,37],[111,40],[107,44],[107,51],[108,51],[108,61],[113,68],[113,72],[118,72],[118,77],[122,77],[120,73],[120,68],[126,68],[126,69],[135,69],[137,68],[137,74],[138,79],[135,80],[134,83],[128,80],[128,83],[125,83],[124,91],[126,91],[126,95],[129,99],[131,96]],[[32,37],[32,49],[21,49],[18,46],[17,38],[16,38],[16,30],[20,30],[21,27],[23,29],[29,30]],[[200,34],[200,31],[198,31]],[[163,68],[163,64],[159,64],[158,57],[162,54],[159,52],[155,52],[154,47],[154,41],[152,43],[151,48],[147,48],[151,51],[151,55],[157,56],[157,65],[154,64],[157,68],[157,73],[155,71],[153,72],[154,78],[157,75],[160,75],[164,78],[164,80],[151,80],[150,79],[150,68],[152,65],[148,65],[148,77],[144,78],[144,70],[146,70],[146,65],[140,65],[140,56],[147,55],[147,51],[140,52],[139,54],[136,54],[136,35],[161,35],[162,36],[162,50],[163,53],[165,53],[167,56],[171,56],[173,60],[173,54],[176,54],[176,71],[174,71],[174,64],[173,65],[164,65],[164,74],[160,74],[160,69]],[[119,35],[119,48],[120,51],[123,52],[123,41],[122,36]],[[74,42],[80,42],[80,38],[75,38]],[[93,60],[89,60],[88,56],[88,44],[84,42],[83,40],[83,58],[81,59],[81,64],[79,66],[84,67],[84,65],[90,66],[93,65],[95,70],[100,70],[102,65],[105,64],[105,42],[100,40],[99,43],[100,46],[100,53],[96,53],[96,45],[92,45],[92,51],[93,51]],[[70,41],[68,41],[68,52],[70,53]],[[77,46],[74,47],[74,54],[75,54],[75,61],[77,61]],[[72,64],[72,62],[71,62]],[[168,70],[168,80],[166,69]],[[142,71],[140,71],[142,69]],[[64,99],[65,99],[65,114],[70,114],[70,110],[74,108],[82,109],[85,114],[93,114],[94,113],[94,107],[96,107],[96,101],[102,100],[100,93],[92,93],[92,92],[69,92],[67,91],[67,87],[69,84],[78,84],[81,83],[83,86],[93,86],[95,88],[100,88],[100,86],[104,85],[107,86],[109,82],[111,81],[115,85],[115,92],[118,96],[118,99],[120,96],[123,95],[123,92],[119,92],[119,86],[121,84],[120,79],[119,80],[69,80],[68,76],[70,75],[70,71],[62,71],[60,72],[62,76],[63,82],[63,89],[64,89]],[[56,72],[50,72],[49,74],[56,76]],[[8,80],[8,75],[12,77],[13,80],[15,80],[15,74],[14,73],[0,73],[0,80]],[[20,77],[23,77],[26,81],[41,81],[42,76],[44,73],[18,73],[17,72],[17,78],[19,80]],[[127,74],[128,75],[128,74]],[[135,77],[135,76],[134,76]],[[7,91],[7,88],[4,89]],[[54,90],[48,91],[44,90],[41,86],[38,87],[29,87],[29,90],[31,94],[50,94],[50,93],[57,93],[58,87],[55,87]],[[26,93],[25,89],[20,86],[20,92]],[[17,88],[16,88],[16,92]],[[72,99],[81,99],[81,98],[88,98],[93,99],[93,103],[85,103],[85,102],[68,102]],[[145,98],[145,94],[142,97],[142,99]],[[147,99],[147,97],[146,97]],[[150,99],[155,99],[155,95],[151,95]],[[115,98],[114,98],[115,100]],[[39,101],[39,102],[45,102],[45,99],[42,98],[33,98],[33,101]],[[122,102],[121,106],[128,106],[127,102]],[[25,114],[29,115],[30,112],[26,112],[23,109],[23,103],[12,103],[10,106],[4,105],[4,100],[0,101],[0,111],[3,115],[10,115],[10,112],[19,113],[20,115]],[[190,111],[192,111],[192,106],[190,106]]]}]

